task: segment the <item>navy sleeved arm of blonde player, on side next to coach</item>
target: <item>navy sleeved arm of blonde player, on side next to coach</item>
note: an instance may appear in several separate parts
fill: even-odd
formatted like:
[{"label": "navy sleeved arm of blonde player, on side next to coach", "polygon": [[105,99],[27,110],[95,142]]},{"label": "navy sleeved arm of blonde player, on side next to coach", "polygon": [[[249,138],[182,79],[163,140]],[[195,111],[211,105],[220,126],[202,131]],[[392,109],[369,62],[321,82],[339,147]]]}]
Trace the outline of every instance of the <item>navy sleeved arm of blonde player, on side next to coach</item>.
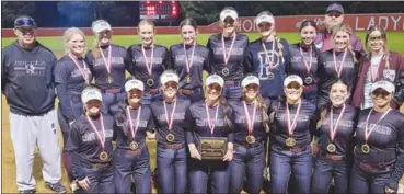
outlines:
[{"label": "navy sleeved arm of blonde player, on side next to coach", "polygon": [[67,95],[68,93],[67,80],[69,73],[66,72],[66,65],[62,61],[58,61],[56,64],[54,75],[61,113],[70,123],[74,121],[74,115],[70,106],[70,100]]}]

